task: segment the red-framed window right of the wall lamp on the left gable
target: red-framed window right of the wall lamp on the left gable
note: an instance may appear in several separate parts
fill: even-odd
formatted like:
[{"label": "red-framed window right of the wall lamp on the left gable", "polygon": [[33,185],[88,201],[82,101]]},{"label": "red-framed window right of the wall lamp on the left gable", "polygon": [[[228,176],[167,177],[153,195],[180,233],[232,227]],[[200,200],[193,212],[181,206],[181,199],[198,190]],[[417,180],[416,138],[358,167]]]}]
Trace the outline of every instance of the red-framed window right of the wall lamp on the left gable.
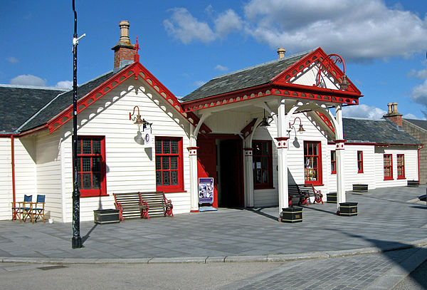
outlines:
[{"label": "red-framed window right of the wall lamp on the left gable", "polygon": [[156,137],[155,144],[157,190],[184,190],[182,138]]}]

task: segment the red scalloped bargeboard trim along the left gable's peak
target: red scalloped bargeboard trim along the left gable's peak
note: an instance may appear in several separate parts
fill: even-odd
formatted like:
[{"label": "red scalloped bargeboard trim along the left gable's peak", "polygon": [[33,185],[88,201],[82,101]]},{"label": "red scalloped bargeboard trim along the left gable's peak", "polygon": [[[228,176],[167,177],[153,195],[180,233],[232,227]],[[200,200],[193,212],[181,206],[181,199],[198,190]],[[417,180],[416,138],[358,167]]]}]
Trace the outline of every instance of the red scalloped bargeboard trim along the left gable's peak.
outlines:
[{"label": "red scalloped bargeboard trim along the left gable's peak", "polygon": [[[85,95],[83,98],[80,98],[77,103],[77,113],[82,112],[90,105],[95,103],[96,100],[99,100],[102,98],[102,96],[109,93],[113,88],[116,88],[121,83],[132,77],[135,78],[135,80],[138,78],[144,79],[144,81],[149,86],[154,88],[154,90],[156,90],[157,93],[159,93],[159,95],[164,98],[164,100],[167,100],[167,102],[172,105],[176,112],[186,118],[186,120],[188,120],[192,125],[196,126],[197,123],[199,123],[199,118],[194,113],[189,114],[184,112],[184,109],[181,107],[181,103],[179,103],[176,96],[171,93],[162,83],[160,83],[160,81],[157,80],[157,78],[154,77],[152,73],[150,73],[147,68],[142,66],[142,64],[139,62],[132,63],[130,66],[120,71],[119,73],[116,73],[100,86],[97,86],[97,88],[90,91],[90,93]],[[70,105],[68,108],[63,110],[62,113],[56,115],[56,117],[48,121],[47,125],[49,132],[52,133],[53,131],[60,128],[60,126],[64,125],[72,119],[73,105]],[[211,130],[206,125],[202,125],[202,130],[204,130],[206,133],[211,132]]]}]

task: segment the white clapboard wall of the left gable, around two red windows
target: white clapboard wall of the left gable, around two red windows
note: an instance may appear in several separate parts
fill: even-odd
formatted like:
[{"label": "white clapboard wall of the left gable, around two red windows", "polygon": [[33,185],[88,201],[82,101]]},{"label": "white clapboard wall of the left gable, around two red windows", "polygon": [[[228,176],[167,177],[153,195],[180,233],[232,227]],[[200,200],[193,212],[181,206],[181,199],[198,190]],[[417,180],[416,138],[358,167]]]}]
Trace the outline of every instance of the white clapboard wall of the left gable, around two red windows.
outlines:
[{"label": "white clapboard wall of the left gable, around two red windows", "polygon": [[[132,79],[126,83],[135,83],[135,81]],[[189,147],[189,138],[186,133],[189,123],[163,98],[156,97],[156,93],[149,88],[144,88],[142,82],[137,83],[141,85],[139,90],[128,90],[128,86],[121,85],[79,114],[79,120],[91,118],[90,122],[80,126],[79,135],[105,136],[106,182],[109,195],[82,197],[80,199],[81,220],[93,220],[94,209],[114,208],[113,192],[156,190],[154,147],[144,148],[135,142],[138,127],[129,120],[129,113],[135,105],[139,106],[142,118],[153,123],[154,136],[182,137],[185,192],[167,193],[167,198],[174,204],[174,213],[190,210],[189,154],[186,149]],[[70,123],[61,128],[64,162],[63,192],[73,191],[70,128]],[[63,197],[66,200],[67,212],[71,212],[71,195],[64,194]],[[65,219],[71,222],[70,214]]]}]

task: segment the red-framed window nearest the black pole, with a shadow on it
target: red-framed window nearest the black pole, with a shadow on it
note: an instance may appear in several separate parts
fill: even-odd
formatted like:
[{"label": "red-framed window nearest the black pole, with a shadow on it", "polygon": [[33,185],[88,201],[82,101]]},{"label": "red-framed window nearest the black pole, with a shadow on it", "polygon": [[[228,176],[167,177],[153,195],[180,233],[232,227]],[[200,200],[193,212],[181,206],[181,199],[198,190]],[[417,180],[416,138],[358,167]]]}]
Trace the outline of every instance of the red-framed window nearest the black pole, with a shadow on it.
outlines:
[{"label": "red-framed window nearest the black pole, with a shadow on it", "polygon": [[107,195],[105,182],[105,137],[78,136],[78,188],[81,197]]}]

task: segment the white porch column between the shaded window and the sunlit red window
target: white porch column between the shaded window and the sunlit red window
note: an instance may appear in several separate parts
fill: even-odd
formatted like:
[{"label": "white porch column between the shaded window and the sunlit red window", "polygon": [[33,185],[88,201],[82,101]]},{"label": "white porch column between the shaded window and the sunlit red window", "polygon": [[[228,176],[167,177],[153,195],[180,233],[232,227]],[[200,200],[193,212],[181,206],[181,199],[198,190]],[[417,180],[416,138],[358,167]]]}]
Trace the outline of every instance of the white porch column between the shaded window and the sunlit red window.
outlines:
[{"label": "white porch column between the shaded window and the sunlit red window", "polygon": [[285,98],[280,98],[278,105],[278,193],[279,214],[283,207],[288,207],[288,137],[285,124]]}]

